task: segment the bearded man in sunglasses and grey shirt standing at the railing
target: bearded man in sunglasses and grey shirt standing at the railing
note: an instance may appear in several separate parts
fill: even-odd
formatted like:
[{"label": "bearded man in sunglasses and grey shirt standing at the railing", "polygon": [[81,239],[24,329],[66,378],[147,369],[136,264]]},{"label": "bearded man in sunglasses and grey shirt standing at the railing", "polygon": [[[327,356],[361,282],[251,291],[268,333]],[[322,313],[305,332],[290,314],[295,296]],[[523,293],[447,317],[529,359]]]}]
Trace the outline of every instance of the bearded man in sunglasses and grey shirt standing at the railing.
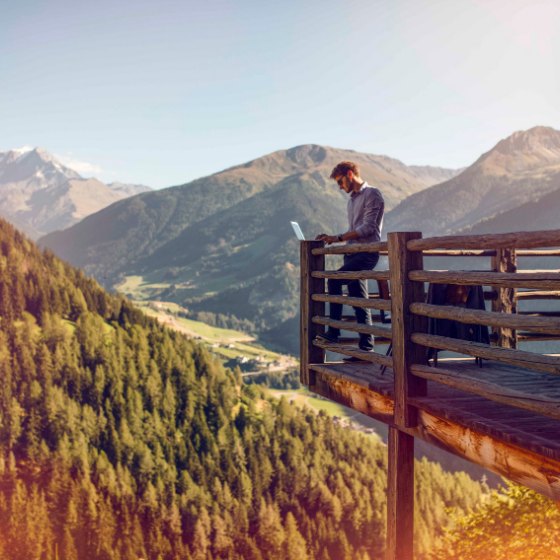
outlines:
[{"label": "bearded man in sunglasses and grey shirt standing at the railing", "polygon": [[[368,185],[360,177],[359,167],[350,161],[339,163],[331,173],[341,190],[350,195],[348,200],[348,231],[339,235],[318,235],[315,239],[324,241],[327,245],[346,241],[348,245],[354,243],[373,243],[381,240],[381,228],[383,226],[383,214],[385,213],[385,202],[379,189]],[[344,255],[344,266],[339,271],[373,270],[379,253],[351,253]],[[342,295],[342,286],[348,285],[350,297],[368,297],[367,280],[334,280],[329,279],[328,291],[330,295]],[[354,307],[358,323],[371,325],[371,313],[369,309]],[[330,317],[335,321],[342,318],[342,304],[330,304]],[[326,342],[338,342],[340,329],[329,327],[325,334],[318,338]],[[360,333],[360,348],[373,352],[373,335]],[[345,358],[345,362],[361,361],[358,358]]]}]

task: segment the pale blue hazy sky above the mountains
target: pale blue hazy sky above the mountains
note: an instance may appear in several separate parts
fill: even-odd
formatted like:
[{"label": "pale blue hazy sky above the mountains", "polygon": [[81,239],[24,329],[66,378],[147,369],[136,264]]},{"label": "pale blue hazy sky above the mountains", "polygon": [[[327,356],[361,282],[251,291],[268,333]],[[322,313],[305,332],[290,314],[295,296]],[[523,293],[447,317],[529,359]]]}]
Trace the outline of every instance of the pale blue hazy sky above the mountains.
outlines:
[{"label": "pale blue hazy sky above the mountains", "polygon": [[[0,150],[182,184],[316,143],[461,167],[560,129],[560,0],[3,0]],[[73,163],[72,163],[73,162]]]}]

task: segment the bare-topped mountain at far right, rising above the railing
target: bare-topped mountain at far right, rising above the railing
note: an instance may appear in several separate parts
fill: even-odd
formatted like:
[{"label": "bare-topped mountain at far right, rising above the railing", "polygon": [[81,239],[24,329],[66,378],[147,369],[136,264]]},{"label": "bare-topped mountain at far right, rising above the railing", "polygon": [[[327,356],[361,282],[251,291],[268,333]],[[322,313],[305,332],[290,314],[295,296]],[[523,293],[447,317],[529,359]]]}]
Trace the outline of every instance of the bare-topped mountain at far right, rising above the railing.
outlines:
[{"label": "bare-topped mountain at far right, rising above the railing", "polygon": [[[387,214],[385,233],[446,235],[560,188],[560,132],[544,126],[501,140],[461,174],[415,193]],[[507,231],[525,229],[510,222]],[[534,223],[529,229],[542,229]]]}]

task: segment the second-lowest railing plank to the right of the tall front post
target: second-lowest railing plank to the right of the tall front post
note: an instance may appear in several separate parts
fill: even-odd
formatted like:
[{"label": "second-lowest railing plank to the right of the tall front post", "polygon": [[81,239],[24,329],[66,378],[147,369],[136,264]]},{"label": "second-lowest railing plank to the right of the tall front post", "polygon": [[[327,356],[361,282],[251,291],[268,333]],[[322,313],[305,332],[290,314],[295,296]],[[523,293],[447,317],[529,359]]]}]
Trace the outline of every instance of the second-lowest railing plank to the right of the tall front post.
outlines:
[{"label": "second-lowest railing plank to the right of the tall front post", "polygon": [[544,356],[533,352],[514,350],[513,348],[501,348],[500,346],[490,346],[489,344],[481,344],[480,342],[457,340],[455,338],[447,338],[434,334],[412,333],[410,338],[412,342],[427,346],[428,348],[458,352],[459,354],[466,354],[467,356],[473,356],[475,358],[485,358],[505,364],[512,364],[560,375],[560,358],[554,356]]}]

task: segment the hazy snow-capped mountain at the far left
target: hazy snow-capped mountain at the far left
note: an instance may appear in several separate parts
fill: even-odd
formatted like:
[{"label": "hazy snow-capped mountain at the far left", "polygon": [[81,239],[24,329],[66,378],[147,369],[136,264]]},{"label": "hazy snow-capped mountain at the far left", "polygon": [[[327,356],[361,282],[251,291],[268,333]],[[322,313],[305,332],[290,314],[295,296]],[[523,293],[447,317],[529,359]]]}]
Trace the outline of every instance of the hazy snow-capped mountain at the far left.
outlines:
[{"label": "hazy snow-capped mountain at the far left", "polygon": [[145,190],[84,179],[43,148],[0,152],[0,215],[33,239]]}]

